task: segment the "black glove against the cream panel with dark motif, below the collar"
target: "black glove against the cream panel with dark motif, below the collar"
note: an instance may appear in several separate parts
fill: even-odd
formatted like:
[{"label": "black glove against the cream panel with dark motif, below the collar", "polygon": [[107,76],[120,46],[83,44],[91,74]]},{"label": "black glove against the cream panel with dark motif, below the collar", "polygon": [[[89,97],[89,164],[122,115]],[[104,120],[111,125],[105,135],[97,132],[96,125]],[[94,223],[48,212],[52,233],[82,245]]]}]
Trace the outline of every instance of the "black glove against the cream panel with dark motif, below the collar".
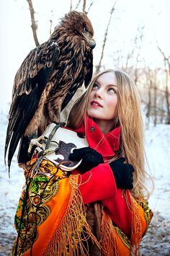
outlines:
[{"label": "black glove against the cream panel with dark motif, below the collar", "polygon": [[73,153],[70,154],[69,159],[71,161],[81,161],[81,164],[77,169],[84,173],[90,169],[97,167],[97,165],[104,163],[102,154],[99,154],[96,150],[91,149],[89,146],[81,149],[73,149]]}]

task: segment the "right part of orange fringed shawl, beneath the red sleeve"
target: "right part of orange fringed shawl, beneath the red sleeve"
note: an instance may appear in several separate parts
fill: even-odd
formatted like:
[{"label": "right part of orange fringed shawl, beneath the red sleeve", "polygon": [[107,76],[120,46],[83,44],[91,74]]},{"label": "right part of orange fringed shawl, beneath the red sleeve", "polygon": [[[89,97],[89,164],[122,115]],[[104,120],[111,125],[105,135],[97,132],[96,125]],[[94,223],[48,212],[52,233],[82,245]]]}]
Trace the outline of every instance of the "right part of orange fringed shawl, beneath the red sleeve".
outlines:
[{"label": "right part of orange fringed shawl, beneath the red sleeve", "polygon": [[100,255],[99,253],[109,256],[140,255],[140,241],[146,234],[153,216],[151,209],[148,208],[148,202],[140,204],[135,201],[133,206],[135,212],[133,214],[131,237],[128,237],[118,226],[112,223],[101,203],[97,202],[88,205],[87,221],[102,246],[102,249],[99,250],[94,247],[94,244],[89,243],[91,246],[89,250],[91,251],[91,248],[93,250],[90,255]]}]

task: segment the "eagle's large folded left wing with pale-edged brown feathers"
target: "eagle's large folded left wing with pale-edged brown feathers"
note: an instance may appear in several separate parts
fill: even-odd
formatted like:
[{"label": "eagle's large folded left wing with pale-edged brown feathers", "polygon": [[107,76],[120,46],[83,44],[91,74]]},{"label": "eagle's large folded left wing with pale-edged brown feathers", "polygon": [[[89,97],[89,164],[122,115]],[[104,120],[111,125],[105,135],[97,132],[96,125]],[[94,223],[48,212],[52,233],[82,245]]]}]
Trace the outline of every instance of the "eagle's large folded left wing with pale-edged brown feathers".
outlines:
[{"label": "eagle's large folded left wing with pale-edged brown feathers", "polygon": [[35,114],[58,55],[58,44],[55,40],[48,40],[33,49],[17,71],[12,92],[12,105],[9,110],[4,152],[6,159],[6,151],[9,147],[9,167],[19,139]]}]

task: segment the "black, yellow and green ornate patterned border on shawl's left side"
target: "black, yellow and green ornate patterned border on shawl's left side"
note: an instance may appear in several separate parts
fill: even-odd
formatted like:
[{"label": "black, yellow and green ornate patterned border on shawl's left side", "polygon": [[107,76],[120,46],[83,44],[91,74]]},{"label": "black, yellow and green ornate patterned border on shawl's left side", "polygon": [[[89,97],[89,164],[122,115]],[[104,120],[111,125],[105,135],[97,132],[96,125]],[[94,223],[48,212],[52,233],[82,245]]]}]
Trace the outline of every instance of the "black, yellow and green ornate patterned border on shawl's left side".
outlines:
[{"label": "black, yellow and green ornate patterned border on shawl's left side", "polygon": [[50,215],[50,207],[46,203],[58,193],[59,180],[66,177],[53,163],[43,160],[37,175],[32,179],[34,166],[35,159],[28,162],[25,169],[26,183],[15,215],[18,237],[14,242],[12,255],[22,255],[32,247],[37,239],[37,226]]}]

